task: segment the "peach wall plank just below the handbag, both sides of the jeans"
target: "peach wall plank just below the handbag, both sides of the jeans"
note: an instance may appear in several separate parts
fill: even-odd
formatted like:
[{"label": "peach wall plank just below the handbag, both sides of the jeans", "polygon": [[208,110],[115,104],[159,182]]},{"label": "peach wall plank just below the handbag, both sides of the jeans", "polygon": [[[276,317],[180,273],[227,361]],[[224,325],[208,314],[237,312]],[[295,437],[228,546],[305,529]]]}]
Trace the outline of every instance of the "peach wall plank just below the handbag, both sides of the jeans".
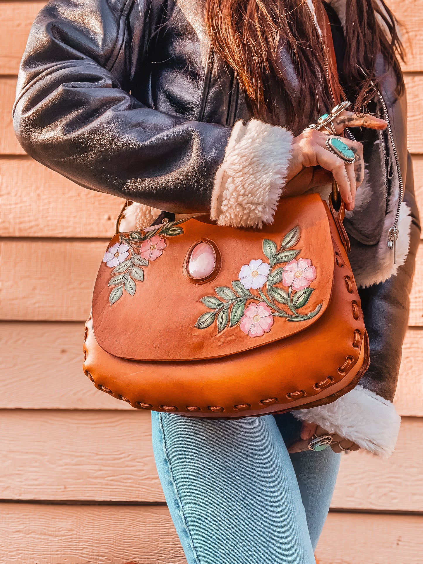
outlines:
[{"label": "peach wall plank just below the handbag, both sides of the jeans", "polygon": [[[164,501],[147,412],[12,409],[0,430],[0,499]],[[389,460],[343,456],[332,507],[423,512],[422,433],[406,417]]]}]

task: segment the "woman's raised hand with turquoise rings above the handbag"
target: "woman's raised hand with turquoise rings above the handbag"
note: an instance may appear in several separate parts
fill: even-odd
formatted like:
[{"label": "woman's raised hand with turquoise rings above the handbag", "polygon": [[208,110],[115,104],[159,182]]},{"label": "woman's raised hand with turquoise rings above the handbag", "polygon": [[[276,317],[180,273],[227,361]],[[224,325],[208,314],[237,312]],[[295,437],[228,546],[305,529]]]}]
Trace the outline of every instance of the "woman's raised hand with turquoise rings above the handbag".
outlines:
[{"label": "woman's raised hand with turquoise rings above the handbag", "polygon": [[[342,112],[333,120],[333,126],[338,135],[343,133],[345,127],[369,127],[369,129],[385,129],[385,120],[373,117],[370,114],[358,116],[352,112]],[[285,196],[297,196],[308,189],[302,183],[291,183],[289,180],[305,168],[321,166],[330,171],[340,189],[341,197],[347,210],[354,209],[355,192],[364,179],[363,145],[350,139],[340,138],[355,155],[355,162],[345,162],[341,157],[334,155],[326,146],[329,130],[306,129],[293,140],[292,153],[288,168],[287,190]]]}]

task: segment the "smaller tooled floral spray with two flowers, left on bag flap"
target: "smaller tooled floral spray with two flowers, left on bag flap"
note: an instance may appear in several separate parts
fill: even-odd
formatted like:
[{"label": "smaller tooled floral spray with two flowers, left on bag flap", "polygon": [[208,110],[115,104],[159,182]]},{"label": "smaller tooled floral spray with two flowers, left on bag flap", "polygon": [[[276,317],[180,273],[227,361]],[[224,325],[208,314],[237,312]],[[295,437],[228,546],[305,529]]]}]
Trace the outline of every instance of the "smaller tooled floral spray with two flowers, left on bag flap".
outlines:
[{"label": "smaller tooled floral spray with two flowers, left on bag flap", "polygon": [[186,219],[161,224],[155,228],[149,228],[148,231],[131,231],[127,235],[119,234],[118,243],[109,247],[103,258],[107,266],[114,267],[113,276],[108,283],[113,287],[109,296],[111,305],[122,297],[124,290],[130,296],[134,296],[136,282],[144,280],[143,267],[148,266],[149,261],[155,261],[163,253],[166,248],[164,237],[174,237],[183,233],[179,224],[184,221]]}]

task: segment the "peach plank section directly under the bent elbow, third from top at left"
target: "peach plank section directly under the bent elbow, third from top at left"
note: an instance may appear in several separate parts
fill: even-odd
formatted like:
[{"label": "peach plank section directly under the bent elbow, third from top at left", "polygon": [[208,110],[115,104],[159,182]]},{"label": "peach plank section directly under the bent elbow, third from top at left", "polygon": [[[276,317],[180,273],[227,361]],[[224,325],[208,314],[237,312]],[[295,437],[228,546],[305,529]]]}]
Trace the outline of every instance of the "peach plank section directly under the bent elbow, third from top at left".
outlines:
[{"label": "peach plank section directly under the bent elbow, third from top at left", "polygon": [[111,238],[125,203],[21,157],[0,157],[0,197],[2,237]]}]

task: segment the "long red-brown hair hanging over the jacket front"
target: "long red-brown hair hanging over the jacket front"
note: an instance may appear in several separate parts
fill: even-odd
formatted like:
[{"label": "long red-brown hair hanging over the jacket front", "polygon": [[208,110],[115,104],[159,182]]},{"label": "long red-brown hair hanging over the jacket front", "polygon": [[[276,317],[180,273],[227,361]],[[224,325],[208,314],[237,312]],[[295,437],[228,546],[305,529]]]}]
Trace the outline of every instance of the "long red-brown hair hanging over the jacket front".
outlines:
[{"label": "long red-brown hair hanging over the jacket front", "polygon": [[[315,0],[315,8],[319,16],[324,10],[321,0]],[[306,0],[206,0],[205,22],[211,46],[235,71],[256,117],[284,122],[298,131],[332,107],[328,80],[337,82],[338,77],[328,76],[327,54]],[[343,86],[357,109],[364,109],[373,97],[369,80],[376,81],[380,53],[387,67],[394,69],[402,91],[397,55],[403,58],[403,47],[384,0],[346,0],[345,45]],[[290,57],[296,70],[295,87],[285,72],[284,56]],[[330,69],[329,65],[329,73]],[[280,95],[283,116],[277,108]]]}]

